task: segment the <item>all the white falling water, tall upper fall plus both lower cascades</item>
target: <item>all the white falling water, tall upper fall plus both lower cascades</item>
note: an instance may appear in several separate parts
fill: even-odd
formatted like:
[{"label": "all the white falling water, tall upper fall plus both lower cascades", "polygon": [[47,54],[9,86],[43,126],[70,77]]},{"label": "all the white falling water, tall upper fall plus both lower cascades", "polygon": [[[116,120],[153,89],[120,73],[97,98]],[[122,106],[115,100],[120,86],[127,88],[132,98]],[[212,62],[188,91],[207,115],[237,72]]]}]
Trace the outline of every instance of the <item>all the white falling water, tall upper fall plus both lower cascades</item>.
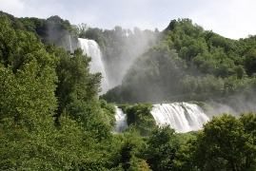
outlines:
[{"label": "all the white falling water, tall upper fall plus both lower cascades", "polygon": [[[90,64],[90,72],[101,72],[102,92],[104,94],[109,88],[108,76],[99,45],[88,39],[78,38],[78,47],[83,49],[83,53],[92,58]],[[70,47],[71,48],[71,47]],[[207,123],[209,118],[204,113],[202,108],[196,104],[174,103],[174,104],[154,104],[151,114],[156,123],[161,126],[169,124],[177,132],[188,132],[191,130],[202,129],[204,123]],[[115,132],[120,133],[128,128],[127,115],[120,108],[116,107],[116,126]]]}]

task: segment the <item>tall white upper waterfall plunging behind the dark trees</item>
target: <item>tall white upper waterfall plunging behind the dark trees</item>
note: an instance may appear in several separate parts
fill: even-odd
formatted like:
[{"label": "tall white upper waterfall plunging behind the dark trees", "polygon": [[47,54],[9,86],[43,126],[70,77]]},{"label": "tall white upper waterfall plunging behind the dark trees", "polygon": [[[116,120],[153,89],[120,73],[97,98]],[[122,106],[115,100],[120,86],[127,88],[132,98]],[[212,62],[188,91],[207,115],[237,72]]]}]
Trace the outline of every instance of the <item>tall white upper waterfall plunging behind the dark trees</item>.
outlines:
[{"label": "tall white upper waterfall plunging behind the dark trees", "polygon": [[108,76],[102,61],[102,54],[99,45],[94,40],[78,38],[78,47],[81,47],[83,53],[91,57],[90,73],[101,72],[103,79],[101,81],[102,91],[100,94],[107,92],[109,88]]}]

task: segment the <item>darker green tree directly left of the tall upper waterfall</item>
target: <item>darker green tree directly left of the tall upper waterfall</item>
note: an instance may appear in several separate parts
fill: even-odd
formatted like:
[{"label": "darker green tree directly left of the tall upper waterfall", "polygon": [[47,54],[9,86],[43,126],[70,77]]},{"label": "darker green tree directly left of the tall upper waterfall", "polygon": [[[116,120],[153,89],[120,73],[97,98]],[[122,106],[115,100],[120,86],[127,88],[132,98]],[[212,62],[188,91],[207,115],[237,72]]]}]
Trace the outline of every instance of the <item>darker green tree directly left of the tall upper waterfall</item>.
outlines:
[{"label": "darker green tree directly left of the tall upper waterfall", "polygon": [[[58,110],[55,117],[56,123],[58,123],[58,117],[69,105],[69,109],[71,109],[72,105],[80,102],[82,104],[96,103],[102,77],[100,73],[89,73],[91,58],[83,55],[81,48],[75,49],[72,55],[64,48],[55,45],[50,44],[46,48],[50,54],[59,59],[56,66],[59,81],[55,91],[58,98]],[[69,113],[69,111],[67,112]],[[74,118],[78,119],[75,115],[78,114],[74,114]]]}]

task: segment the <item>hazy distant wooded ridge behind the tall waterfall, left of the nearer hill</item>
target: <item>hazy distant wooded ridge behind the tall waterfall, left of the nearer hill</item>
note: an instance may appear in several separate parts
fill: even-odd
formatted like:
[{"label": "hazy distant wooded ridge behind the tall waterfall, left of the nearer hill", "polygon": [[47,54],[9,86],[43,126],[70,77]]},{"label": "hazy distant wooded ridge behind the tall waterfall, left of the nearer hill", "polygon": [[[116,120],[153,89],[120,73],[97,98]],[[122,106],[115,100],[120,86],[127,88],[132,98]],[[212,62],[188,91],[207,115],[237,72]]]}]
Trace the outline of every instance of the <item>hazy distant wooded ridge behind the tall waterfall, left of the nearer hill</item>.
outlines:
[{"label": "hazy distant wooded ridge behind the tall waterfall, left of the nearer hill", "polygon": [[8,15],[13,28],[34,33],[45,45],[54,43],[58,47],[73,51],[77,48],[78,37],[96,41],[101,47],[108,79],[112,86],[121,84],[122,78],[126,74],[128,66],[132,64],[133,59],[148,47],[155,45],[160,38],[160,31],[157,28],[154,31],[141,30],[136,27],[131,30],[120,26],[113,29],[90,28],[84,23],[71,25],[68,20],[64,20],[57,15],[47,19],[16,18],[10,14]]}]

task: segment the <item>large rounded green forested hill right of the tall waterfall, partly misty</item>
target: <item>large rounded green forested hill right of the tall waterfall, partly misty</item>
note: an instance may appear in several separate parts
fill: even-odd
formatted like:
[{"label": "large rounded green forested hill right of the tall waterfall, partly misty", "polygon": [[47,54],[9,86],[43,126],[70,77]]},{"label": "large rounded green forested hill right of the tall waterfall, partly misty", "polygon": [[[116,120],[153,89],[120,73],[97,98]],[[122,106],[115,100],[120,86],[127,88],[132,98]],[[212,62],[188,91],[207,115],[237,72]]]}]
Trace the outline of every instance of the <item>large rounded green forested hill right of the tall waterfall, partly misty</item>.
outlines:
[{"label": "large rounded green forested hill right of the tall waterfall, partly misty", "polygon": [[172,20],[159,44],[129,67],[122,85],[102,96],[108,102],[228,101],[234,94],[253,100],[256,36],[231,40],[192,24]]}]

